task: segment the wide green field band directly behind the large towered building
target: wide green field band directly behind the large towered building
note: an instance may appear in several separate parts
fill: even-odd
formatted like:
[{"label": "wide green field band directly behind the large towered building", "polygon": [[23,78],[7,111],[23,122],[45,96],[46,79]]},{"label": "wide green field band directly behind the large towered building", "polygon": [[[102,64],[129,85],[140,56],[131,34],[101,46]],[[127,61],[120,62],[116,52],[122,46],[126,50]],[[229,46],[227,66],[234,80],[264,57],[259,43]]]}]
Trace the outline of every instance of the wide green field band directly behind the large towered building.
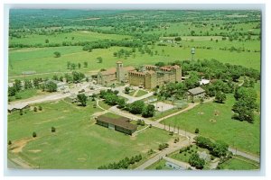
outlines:
[{"label": "wide green field band directly behind the large towered building", "polygon": [[[189,42],[192,43],[192,42]],[[193,42],[195,43],[195,42]],[[216,42],[208,42],[214,44]],[[218,42],[219,43],[219,42]],[[221,42],[222,43],[222,42]],[[236,43],[238,44],[238,43]],[[190,45],[192,47],[192,45]],[[81,47],[58,47],[58,48],[42,48],[42,49],[17,49],[10,50],[9,53],[9,76],[21,75],[23,71],[34,70],[37,73],[46,72],[66,72],[67,61],[80,63],[82,72],[90,70],[115,67],[117,60],[122,60],[125,66],[140,66],[142,64],[154,64],[158,61],[172,62],[174,60],[191,59],[191,48],[180,47],[161,47],[154,46],[153,51],[157,51],[157,55],[149,56],[135,52],[134,57],[117,58],[113,53],[119,49],[129,49],[121,47],[111,47],[109,49],[94,49],[92,52],[83,51]],[[60,51],[61,57],[54,58],[53,52]],[[164,51],[164,52],[163,52]],[[103,63],[98,63],[97,58],[102,57]],[[260,69],[260,53],[259,52],[230,52],[229,50],[219,49],[196,49],[195,59],[215,58],[223,63],[242,65],[244,67],[253,67]],[[89,63],[89,67],[83,67],[84,61]],[[42,66],[41,66],[42,63]]]}]

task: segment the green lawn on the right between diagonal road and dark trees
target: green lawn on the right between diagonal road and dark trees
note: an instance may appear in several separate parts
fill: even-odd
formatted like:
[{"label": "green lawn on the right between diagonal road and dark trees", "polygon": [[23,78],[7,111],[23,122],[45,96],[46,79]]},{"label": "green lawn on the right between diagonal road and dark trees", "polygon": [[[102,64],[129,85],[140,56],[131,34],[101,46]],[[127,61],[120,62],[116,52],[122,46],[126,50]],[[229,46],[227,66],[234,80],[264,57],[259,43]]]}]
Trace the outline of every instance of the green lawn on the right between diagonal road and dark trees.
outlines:
[{"label": "green lawn on the right between diagonal road and dark trees", "polygon": [[[228,94],[225,103],[202,103],[188,112],[183,112],[165,120],[166,124],[178,125],[181,129],[194,132],[200,129],[202,136],[220,139],[240,150],[259,154],[260,118],[256,114],[255,122],[231,119],[231,107],[235,99]],[[218,115],[215,115],[215,112]],[[162,122],[163,123],[163,122]]]}]

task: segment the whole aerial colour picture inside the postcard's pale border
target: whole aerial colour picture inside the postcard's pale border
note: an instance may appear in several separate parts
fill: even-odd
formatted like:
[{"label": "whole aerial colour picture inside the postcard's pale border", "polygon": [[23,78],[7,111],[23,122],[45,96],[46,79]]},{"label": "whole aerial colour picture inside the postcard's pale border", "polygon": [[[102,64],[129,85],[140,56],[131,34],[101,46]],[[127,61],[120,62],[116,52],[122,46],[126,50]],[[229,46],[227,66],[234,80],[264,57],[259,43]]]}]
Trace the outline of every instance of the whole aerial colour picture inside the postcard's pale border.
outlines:
[{"label": "whole aerial colour picture inside the postcard's pale border", "polygon": [[12,8],[9,169],[259,171],[261,10]]}]

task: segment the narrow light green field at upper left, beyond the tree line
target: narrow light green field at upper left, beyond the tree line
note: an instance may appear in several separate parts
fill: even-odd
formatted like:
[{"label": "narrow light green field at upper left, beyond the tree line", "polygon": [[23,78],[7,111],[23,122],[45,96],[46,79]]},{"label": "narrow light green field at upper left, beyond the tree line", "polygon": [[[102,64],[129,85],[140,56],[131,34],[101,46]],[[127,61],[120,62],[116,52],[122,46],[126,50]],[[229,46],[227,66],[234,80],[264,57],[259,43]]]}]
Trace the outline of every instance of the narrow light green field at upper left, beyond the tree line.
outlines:
[{"label": "narrow light green field at upper left, beyond the tree line", "polygon": [[97,41],[97,40],[123,40],[125,38],[130,38],[127,35],[117,35],[117,34],[105,34],[93,31],[72,31],[66,33],[58,33],[54,35],[26,35],[23,38],[10,38],[9,44],[42,44],[45,45],[45,40],[49,40],[49,43],[61,43],[63,41]]}]

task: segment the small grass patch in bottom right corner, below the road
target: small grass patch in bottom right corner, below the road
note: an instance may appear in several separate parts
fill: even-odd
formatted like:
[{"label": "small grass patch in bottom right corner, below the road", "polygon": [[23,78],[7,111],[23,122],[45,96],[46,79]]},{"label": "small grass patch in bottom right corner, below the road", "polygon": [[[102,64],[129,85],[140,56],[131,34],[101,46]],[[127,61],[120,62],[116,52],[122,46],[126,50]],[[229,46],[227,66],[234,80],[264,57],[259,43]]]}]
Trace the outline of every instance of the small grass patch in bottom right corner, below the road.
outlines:
[{"label": "small grass patch in bottom right corner, below the road", "polygon": [[234,156],[220,165],[220,169],[251,170],[259,169],[259,164],[244,157]]}]

